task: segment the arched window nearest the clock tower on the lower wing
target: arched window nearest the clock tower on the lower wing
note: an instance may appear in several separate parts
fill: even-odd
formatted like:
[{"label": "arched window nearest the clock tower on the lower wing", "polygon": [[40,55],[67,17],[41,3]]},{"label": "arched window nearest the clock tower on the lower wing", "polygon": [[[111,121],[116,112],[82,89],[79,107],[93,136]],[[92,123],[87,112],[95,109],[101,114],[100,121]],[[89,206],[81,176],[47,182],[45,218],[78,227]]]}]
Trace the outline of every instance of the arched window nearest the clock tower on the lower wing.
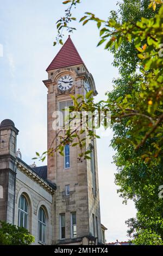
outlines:
[{"label": "arched window nearest the clock tower on the lower wing", "polygon": [[47,226],[47,220],[45,211],[42,209],[42,207],[39,210],[39,241],[46,243],[46,226]]}]

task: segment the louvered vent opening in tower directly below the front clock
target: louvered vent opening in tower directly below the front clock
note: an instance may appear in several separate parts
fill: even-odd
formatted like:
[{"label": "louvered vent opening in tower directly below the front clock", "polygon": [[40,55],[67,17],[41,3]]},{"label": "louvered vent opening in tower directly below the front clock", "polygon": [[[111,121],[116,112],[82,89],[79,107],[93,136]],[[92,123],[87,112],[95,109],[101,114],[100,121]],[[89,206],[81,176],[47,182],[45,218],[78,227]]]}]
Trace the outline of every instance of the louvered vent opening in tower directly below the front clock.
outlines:
[{"label": "louvered vent opening in tower directly below the front clock", "polygon": [[59,101],[59,127],[65,127],[65,125],[68,124],[66,118],[68,116],[68,111],[66,111],[66,109],[70,106],[73,106],[73,100]]}]

